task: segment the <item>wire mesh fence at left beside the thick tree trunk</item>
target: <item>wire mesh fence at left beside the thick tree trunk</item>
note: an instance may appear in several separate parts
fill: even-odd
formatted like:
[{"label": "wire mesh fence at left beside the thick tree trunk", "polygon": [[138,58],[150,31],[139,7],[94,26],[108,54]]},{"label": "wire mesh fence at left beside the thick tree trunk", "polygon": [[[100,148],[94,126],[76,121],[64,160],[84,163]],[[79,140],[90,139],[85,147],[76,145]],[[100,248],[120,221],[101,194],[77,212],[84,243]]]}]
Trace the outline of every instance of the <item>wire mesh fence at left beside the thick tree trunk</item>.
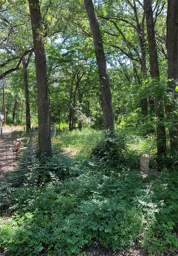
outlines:
[{"label": "wire mesh fence at left beside the thick tree trunk", "polygon": [[35,161],[35,131],[0,135],[0,215],[6,215],[13,205],[11,191],[28,185],[29,169]]}]

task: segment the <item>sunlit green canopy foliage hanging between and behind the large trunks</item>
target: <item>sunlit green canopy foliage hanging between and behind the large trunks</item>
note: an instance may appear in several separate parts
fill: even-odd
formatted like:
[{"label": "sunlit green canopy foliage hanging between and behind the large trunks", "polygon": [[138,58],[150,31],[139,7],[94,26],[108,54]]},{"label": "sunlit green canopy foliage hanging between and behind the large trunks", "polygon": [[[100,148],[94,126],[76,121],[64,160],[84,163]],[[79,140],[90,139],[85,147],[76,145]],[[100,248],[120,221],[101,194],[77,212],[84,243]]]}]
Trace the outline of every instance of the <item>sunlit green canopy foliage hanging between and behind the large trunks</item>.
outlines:
[{"label": "sunlit green canopy foliage hanging between and behind the large trunks", "polygon": [[[18,57],[20,58],[33,46],[30,18],[27,15],[29,13],[28,1],[22,0],[16,3],[14,0],[6,0],[3,2],[2,9],[5,9],[8,3],[10,5],[0,17],[2,23],[0,33],[2,40],[4,39],[0,46],[2,49],[0,51],[1,74],[15,68]],[[95,2],[108,64],[115,126],[137,129],[137,132],[142,135],[155,134],[157,119],[154,117],[155,110],[150,100],[159,94],[164,107],[168,102],[174,101],[174,94],[168,94],[167,91],[166,3],[163,0],[158,3],[153,1],[160,70],[160,82],[155,82],[149,75],[147,32],[142,24],[143,6],[136,1],[138,22],[144,29],[142,33],[146,53],[146,74],[144,75],[141,70],[142,56],[136,29],[137,21],[132,5],[128,1],[120,0],[107,3],[105,1]],[[56,0],[45,0],[40,3],[45,30],[51,122],[59,123],[60,129],[63,128],[63,124],[68,127],[69,112],[73,109],[75,127],[81,121],[83,126],[103,128],[98,71],[83,1],[74,0],[69,3],[64,0],[61,1],[60,8]],[[8,19],[12,19],[10,24]],[[10,31],[9,35],[8,31]],[[6,34],[9,36],[8,40]],[[37,123],[34,55],[28,66],[28,82],[33,125]],[[79,82],[78,85],[77,82]],[[0,97],[2,97],[2,90],[0,90]],[[143,97],[148,99],[146,117],[142,113]],[[7,123],[25,125],[23,68],[5,76],[5,99]],[[13,120],[14,107],[15,118]],[[0,101],[0,112],[3,112],[2,101]],[[171,117],[168,118],[165,115],[163,123],[167,129],[172,127],[172,119],[176,114],[177,108],[174,109]]]}]

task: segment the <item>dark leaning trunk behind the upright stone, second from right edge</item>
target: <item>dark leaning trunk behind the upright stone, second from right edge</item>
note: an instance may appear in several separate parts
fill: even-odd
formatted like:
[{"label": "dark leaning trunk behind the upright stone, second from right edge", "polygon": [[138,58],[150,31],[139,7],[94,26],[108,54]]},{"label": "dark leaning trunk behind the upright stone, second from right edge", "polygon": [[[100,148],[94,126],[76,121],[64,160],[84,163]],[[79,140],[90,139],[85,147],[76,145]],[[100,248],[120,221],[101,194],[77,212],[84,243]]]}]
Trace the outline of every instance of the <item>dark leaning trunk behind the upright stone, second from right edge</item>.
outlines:
[{"label": "dark leaning trunk behind the upright stone, second from right edge", "polygon": [[[151,0],[144,0],[144,4],[146,9],[146,26],[149,44],[151,77],[154,78],[153,81],[157,83],[157,86],[159,86],[160,75]],[[155,95],[155,114],[158,119],[158,124],[156,127],[157,155],[160,156],[166,151],[166,130],[164,126],[164,108],[162,103],[161,89],[158,87],[156,91],[158,92],[157,95]]]}]

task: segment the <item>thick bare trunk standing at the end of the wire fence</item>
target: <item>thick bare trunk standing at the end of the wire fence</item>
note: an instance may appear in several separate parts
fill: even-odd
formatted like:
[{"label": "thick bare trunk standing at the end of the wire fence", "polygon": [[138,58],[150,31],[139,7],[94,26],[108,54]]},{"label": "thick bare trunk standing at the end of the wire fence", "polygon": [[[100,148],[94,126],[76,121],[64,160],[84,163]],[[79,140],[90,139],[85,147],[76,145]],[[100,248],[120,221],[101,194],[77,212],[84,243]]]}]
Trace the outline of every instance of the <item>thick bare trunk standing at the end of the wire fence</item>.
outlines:
[{"label": "thick bare trunk standing at the end of the wire fence", "polygon": [[52,153],[50,134],[49,96],[46,71],[46,54],[43,39],[43,25],[39,0],[28,0],[35,52],[37,101],[38,101],[38,143],[39,150]]}]

